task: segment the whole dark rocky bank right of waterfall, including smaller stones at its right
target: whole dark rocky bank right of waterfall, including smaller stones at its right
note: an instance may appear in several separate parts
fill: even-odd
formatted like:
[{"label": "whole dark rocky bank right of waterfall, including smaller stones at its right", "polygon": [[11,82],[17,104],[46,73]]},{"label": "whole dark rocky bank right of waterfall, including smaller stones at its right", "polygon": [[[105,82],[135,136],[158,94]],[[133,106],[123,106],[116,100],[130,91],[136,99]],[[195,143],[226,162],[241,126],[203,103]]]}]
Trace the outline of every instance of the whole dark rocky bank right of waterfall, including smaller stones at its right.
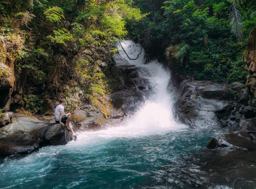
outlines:
[{"label": "whole dark rocky bank right of waterfall, including smaller stones at its right", "polygon": [[234,126],[256,112],[243,84],[184,80],[174,104],[175,116],[192,128]]}]

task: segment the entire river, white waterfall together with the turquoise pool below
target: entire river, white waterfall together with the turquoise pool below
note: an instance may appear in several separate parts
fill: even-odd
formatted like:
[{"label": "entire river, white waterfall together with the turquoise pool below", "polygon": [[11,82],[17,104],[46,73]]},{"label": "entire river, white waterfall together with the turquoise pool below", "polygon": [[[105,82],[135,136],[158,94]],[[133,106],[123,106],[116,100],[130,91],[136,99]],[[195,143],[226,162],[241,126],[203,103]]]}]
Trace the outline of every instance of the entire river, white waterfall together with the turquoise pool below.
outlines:
[{"label": "entire river, white waterfall together with the turquoise pool below", "polygon": [[[121,43],[129,57],[136,58],[140,46]],[[174,121],[174,97],[167,90],[170,71],[156,60],[144,64],[143,49],[137,60],[129,60],[120,45],[118,48],[123,58],[139,68],[139,76],[150,81],[148,90],[152,92],[146,102],[122,123],[82,132],[66,146],[43,147],[37,153],[1,160],[0,188],[254,188],[250,173],[234,184],[240,161],[234,168],[226,168],[226,162],[216,156],[216,164],[209,165],[214,157],[204,153],[205,146],[223,129],[190,129]],[[217,164],[223,168],[216,168]],[[255,171],[253,160],[244,166],[254,166]]]}]

